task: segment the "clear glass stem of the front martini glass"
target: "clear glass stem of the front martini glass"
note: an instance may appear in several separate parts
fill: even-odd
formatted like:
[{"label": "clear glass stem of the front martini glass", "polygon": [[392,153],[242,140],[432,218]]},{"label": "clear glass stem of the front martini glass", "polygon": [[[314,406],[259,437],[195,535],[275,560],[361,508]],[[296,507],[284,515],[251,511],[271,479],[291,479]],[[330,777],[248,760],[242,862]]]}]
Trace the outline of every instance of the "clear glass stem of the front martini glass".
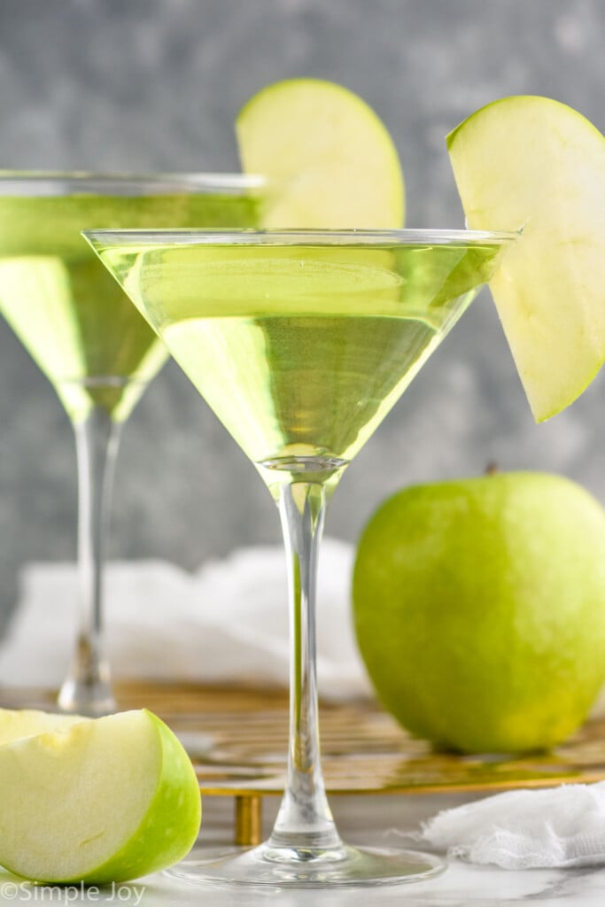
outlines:
[{"label": "clear glass stem of the front martini glass", "polygon": [[295,482],[279,488],[288,557],[290,727],[288,780],[268,848],[286,847],[298,853],[342,846],[319,761],[315,605],[326,505],[323,483]]}]

